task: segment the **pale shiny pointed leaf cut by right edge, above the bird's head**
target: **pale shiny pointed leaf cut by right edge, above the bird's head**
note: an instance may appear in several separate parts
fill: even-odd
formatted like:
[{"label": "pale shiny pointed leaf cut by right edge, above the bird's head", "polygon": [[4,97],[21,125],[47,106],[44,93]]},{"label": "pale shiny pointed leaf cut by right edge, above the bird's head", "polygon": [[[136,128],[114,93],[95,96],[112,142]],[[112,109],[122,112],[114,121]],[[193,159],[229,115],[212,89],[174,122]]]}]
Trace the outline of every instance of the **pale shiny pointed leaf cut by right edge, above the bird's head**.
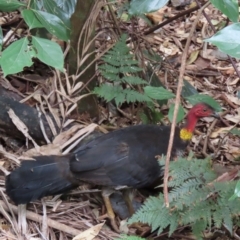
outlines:
[{"label": "pale shiny pointed leaf cut by right edge, above the bird's head", "polygon": [[240,23],[233,23],[205,40],[216,45],[222,52],[240,59]]}]

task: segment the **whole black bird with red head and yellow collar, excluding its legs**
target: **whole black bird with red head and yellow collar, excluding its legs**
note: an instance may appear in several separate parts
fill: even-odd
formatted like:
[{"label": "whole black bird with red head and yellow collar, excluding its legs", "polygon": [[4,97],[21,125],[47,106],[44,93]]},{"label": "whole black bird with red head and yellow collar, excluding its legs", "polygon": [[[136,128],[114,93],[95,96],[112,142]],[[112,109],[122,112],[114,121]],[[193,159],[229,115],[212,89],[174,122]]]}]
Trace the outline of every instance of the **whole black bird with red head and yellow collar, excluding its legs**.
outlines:
[{"label": "whole black bird with red head and yellow collar, excluding its legs", "polygon": [[[204,103],[189,111],[184,128],[175,129],[172,157],[185,150],[197,120],[206,116],[216,115]],[[16,204],[23,204],[84,182],[107,187],[150,186],[163,175],[157,157],[166,154],[169,136],[169,126],[131,126],[102,135],[66,156],[22,161],[6,177],[6,192]]]}]

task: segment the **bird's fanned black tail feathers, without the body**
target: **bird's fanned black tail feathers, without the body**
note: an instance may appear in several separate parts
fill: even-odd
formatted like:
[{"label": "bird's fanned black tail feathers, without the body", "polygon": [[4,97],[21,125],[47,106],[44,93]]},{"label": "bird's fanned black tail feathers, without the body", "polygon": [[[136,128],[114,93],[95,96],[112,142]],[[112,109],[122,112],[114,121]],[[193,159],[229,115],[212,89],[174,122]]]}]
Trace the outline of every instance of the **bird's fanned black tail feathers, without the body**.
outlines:
[{"label": "bird's fanned black tail feathers, without the body", "polygon": [[60,194],[76,187],[69,180],[67,156],[39,156],[25,160],[6,177],[7,195],[16,204]]}]

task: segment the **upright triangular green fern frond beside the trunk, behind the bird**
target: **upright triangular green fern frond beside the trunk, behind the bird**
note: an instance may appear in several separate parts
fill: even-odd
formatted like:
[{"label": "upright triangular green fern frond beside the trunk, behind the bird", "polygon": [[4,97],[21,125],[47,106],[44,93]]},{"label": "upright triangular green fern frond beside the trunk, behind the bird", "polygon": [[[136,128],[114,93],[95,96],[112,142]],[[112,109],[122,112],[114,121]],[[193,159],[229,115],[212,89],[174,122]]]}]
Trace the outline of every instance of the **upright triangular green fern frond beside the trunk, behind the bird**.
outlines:
[{"label": "upright triangular green fern frond beside the trunk, behind the bird", "polygon": [[[105,62],[99,66],[100,73],[110,83],[118,84],[118,87],[109,85],[106,87],[102,84],[100,87],[95,88],[94,93],[103,97],[106,101],[114,100],[117,105],[124,102],[151,102],[144,93],[139,93],[133,88],[133,85],[144,84],[147,85],[147,81],[144,79],[134,76],[133,74],[142,71],[138,67],[138,61],[133,59],[133,55],[130,54],[130,50],[126,45],[126,35],[123,35],[116,45],[109,50],[102,60]],[[127,84],[127,88],[123,89],[121,84]],[[111,91],[111,93],[106,92]]]}]

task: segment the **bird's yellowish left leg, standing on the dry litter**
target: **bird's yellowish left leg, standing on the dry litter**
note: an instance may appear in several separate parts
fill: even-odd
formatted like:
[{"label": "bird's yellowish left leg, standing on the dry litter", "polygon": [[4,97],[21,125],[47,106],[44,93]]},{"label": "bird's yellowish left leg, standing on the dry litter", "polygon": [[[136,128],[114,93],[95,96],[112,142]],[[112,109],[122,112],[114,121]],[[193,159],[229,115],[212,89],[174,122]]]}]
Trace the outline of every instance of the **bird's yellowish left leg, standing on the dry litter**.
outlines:
[{"label": "bird's yellowish left leg, standing on the dry litter", "polygon": [[102,198],[104,200],[104,204],[106,206],[106,209],[107,209],[107,214],[108,214],[108,218],[110,219],[110,222],[111,222],[111,225],[113,227],[113,229],[119,233],[119,228],[116,224],[116,219],[115,219],[115,214],[113,212],[113,208],[112,208],[112,204],[110,202],[110,195],[112,194],[112,190],[111,189],[103,189],[102,190]]}]

